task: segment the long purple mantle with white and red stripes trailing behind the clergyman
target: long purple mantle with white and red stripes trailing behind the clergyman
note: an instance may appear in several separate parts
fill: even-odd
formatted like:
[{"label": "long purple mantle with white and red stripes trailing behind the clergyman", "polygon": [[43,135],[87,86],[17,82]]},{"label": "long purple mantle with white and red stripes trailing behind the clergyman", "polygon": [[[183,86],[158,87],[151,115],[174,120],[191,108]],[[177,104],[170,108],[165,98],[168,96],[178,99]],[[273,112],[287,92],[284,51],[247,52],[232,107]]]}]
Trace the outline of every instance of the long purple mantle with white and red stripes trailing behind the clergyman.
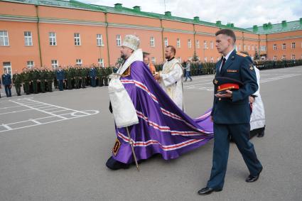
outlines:
[{"label": "long purple mantle with white and red stripes trailing behind the clergyman", "polygon": [[[131,64],[130,75],[121,77],[134,103],[139,124],[129,126],[137,160],[160,153],[166,159],[203,146],[213,138],[210,110],[191,119],[161,89],[149,68],[141,61]],[[117,140],[112,152],[115,160],[134,162],[126,128],[116,128]]]}]

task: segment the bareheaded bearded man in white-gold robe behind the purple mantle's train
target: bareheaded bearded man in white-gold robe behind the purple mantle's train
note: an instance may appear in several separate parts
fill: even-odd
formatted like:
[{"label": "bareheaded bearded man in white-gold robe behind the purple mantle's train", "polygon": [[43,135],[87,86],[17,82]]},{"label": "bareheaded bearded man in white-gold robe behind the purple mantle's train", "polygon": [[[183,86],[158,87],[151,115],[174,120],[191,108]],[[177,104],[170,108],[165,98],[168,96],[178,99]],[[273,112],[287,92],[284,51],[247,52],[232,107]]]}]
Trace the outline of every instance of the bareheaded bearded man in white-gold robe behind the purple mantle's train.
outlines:
[{"label": "bareheaded bearded man in white-gold robe behind the purple mantle's train", "polygon": [[173,100],[173,102],[182,110],[183,107],[183,67],[175,58],[176,48],[168,45],[165,50],[166,63],[163,64],[163,70],[154,78],[158,80],[163,90]]}]

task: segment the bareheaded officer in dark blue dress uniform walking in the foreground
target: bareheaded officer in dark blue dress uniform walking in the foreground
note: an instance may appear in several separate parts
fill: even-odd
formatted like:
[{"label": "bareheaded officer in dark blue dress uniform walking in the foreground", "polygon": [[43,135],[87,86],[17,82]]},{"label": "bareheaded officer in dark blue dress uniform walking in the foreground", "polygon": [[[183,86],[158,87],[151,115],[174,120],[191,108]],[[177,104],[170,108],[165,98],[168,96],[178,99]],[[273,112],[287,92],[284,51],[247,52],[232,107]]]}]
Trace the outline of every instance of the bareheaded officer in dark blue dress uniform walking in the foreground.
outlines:
[{"label": "bareheaded officer in dark blue dress uniform walking in the foreground", "polygon": [[[215,96],[212,107],[212,121],[214,122],[214,149],[212,170],[207,186],[198,191],[199,195],[207,195],[214,191],[221,191],[225,183],[227,158],[230,149],[230,136],[236,143],[244,162],[249,169],[247,183],[256,181],[262,170],[253,144],[249,141],[249,120],[251,109],[249,96],[257,91],[257,78],[252,59],[234,50],[236,36],[230,29],[222,29],[215,33],[216,47],[222,53],[222,59],[216,65]],[[241,82],[237,90],[222,89],[220,85],[224,78]],[[225,83],[223,83],[225,85]]]}]

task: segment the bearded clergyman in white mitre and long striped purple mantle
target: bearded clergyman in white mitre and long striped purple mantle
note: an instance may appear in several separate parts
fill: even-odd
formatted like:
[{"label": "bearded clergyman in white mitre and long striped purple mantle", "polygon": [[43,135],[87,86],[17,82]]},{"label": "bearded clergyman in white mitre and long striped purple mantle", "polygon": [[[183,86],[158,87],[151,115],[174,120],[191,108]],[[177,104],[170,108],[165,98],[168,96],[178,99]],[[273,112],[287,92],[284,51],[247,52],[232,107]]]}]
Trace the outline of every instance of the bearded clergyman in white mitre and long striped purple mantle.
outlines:
[{"label": "bearded clergyman in white mitre and long striped purple mantle", "polygon": [[143,62],[139,38],[126,36],[121,56],[125,62],[110,76],[108,87],[117,134],[108,168],[129,168],[134,163],[129,142],[138,161],[156,153],[170,160],[213,138],[210,110],[192,119],[168,97]]}]

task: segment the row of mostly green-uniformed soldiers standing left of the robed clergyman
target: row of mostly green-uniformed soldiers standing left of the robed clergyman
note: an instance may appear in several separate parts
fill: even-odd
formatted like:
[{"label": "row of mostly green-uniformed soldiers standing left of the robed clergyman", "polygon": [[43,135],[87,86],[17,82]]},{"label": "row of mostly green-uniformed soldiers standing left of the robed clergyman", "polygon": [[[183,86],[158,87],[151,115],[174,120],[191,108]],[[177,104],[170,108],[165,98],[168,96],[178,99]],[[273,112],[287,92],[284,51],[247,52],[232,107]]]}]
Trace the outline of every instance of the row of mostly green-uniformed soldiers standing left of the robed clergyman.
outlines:
[{"label": "row of mostly green-uniformed soldiers standing left of the robed clergyman", "polygon": [[48,67],[23,68],[21,73],[16,72],[12,81],[16,87],[16,93],[21,95],[21,87],[25,94],[38,94],[53,92],[55,89],[80,89],[86,86],[108,86],[108,75],[114,72],[113,67],[67,66],[50,69]]}]

